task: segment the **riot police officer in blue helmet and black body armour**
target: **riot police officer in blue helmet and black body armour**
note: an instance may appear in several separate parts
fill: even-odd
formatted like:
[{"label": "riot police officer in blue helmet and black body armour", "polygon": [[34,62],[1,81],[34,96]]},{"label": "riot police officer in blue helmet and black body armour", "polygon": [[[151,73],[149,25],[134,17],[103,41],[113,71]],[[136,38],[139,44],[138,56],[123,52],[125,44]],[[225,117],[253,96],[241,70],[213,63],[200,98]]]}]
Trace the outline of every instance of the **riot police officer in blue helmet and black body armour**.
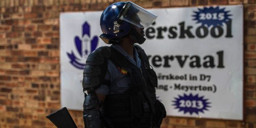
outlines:
[{"label": "riot police officer in blue helmet and black body armour", "polygon": [[117,2],[101,17],[100,47],[87,58],[83,89],[85,128],[160,128],[166,111],[156,100],[156,73],[144,50],[143,29],[156,15],[132,2]]}]

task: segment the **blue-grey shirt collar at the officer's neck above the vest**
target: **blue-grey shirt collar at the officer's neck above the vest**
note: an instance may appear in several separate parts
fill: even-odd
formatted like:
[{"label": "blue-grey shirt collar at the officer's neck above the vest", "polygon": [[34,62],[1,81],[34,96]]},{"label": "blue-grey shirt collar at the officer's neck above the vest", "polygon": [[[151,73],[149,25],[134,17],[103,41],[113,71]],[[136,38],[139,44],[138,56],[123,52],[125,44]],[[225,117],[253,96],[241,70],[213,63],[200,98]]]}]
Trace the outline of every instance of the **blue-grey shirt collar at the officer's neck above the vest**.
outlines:
[{"label": "blue-grey shirt collar at the officer's neck above the vest", "polygon": [[133,54],[135,60],[119,44],[113,44],[112,47],[115,48],[121,54],[123,54],[132,64],[136,65],[139,68],[141,67],[141,59],[139,59],[139,54],[135,47],[133,47]]}]

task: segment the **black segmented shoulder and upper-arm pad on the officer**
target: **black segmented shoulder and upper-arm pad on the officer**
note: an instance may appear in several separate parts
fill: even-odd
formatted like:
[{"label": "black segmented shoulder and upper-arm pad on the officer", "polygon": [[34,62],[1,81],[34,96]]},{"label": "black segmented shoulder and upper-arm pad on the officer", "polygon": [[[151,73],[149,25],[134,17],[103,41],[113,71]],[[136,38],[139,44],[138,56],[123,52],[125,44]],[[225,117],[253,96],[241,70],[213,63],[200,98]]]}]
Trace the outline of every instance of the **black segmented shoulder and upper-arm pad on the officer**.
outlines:
[{"label": "black segmented shoulder and upper-arm pad on the officer", "polygon": [[107,70],[106,59],[109,58],[110,55],[111,50],[108,46],[97,48],[89,54],[83,72],[83,88],[98,87],[102,84]]}]

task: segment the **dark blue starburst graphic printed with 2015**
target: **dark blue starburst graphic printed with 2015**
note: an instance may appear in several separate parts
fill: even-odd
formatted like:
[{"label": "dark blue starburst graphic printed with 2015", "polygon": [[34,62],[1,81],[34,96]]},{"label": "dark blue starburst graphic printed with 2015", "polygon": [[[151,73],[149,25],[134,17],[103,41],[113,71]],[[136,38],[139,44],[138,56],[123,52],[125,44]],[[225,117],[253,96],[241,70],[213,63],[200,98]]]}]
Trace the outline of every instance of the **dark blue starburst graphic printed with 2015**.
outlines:
[{"label": "dark blue starburst graphic printed with 2015", "polygon": [[222,26],[223,23],[231,20],[231,14],[228,14],[230,11],[225,11],[225,9],[220,9],[219,7],[198,8],[197,11],[193,11],[195,14],[192,15],[192,20],[197,21],[196,23],[201,23],[202,26]]}]

